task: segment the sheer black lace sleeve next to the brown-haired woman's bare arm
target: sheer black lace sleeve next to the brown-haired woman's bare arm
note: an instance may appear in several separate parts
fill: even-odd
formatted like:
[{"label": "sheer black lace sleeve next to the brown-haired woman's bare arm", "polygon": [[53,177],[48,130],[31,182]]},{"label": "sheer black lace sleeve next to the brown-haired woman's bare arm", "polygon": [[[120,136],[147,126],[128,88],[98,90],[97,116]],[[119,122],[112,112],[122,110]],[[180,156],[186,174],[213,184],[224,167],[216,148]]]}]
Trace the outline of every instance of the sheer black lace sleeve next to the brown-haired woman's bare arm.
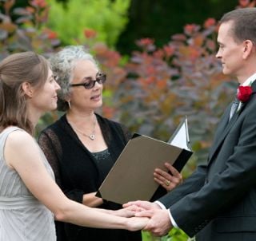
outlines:
[{"label": "sheer black lace sleeve next to the brown-haired woman's bare arm", "polygon": [[38,137],[38,144],[42,148],[46,159],[54,170],[55,181],[61,187],[61,176],[59,171],[58,156],[61,155],[61,145],[58,136],[50,129],[41,132]]}]

